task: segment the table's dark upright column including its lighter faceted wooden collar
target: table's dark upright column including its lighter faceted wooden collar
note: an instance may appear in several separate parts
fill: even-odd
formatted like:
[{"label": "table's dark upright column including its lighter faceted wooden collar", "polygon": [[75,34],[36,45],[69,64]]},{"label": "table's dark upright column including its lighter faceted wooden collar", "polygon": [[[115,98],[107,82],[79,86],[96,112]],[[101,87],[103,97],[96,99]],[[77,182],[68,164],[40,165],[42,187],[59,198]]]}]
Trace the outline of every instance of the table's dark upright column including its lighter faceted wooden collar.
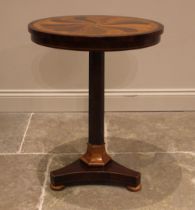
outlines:
[{"label": "table's dark upright column including its lighter faceted wooden collar", "polygon": [[106,165],[111,158],[104,142],[104,57],[103,51],[89,52],[89,139],[80,158],[88,165]]}]

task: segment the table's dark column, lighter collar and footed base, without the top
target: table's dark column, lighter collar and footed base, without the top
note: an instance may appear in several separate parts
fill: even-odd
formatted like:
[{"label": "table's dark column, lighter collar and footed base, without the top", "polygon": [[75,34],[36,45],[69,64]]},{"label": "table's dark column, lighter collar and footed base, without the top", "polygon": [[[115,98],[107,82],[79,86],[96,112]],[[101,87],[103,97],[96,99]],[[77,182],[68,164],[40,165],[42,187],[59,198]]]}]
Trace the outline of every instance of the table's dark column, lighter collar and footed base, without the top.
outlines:
[{"label": "table's dark column, lighter collar and footed base, without the top", "polygon": [[123,185],[131,191],[141,189],[139,172],[128,169],[107,154],[104,142],[104,52],[89,52],[89,139],[87,151],[79,160],[52,171],[51,188],[69,185]]}]

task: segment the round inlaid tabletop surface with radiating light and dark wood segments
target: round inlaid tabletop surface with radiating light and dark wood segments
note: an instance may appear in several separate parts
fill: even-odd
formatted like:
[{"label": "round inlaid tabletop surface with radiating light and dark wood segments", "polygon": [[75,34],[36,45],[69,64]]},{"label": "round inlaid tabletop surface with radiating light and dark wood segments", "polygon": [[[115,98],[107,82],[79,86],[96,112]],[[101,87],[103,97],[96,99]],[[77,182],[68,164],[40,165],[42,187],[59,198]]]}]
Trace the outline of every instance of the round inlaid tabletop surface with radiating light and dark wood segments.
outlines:
[{"label": "round inlaid tabletop surface with radiating light and dark wood segments", "polygon": [[64,36],[135,36],[163,30],[155,21],[123,16],[62,16],[34,21],[30,29]]}]

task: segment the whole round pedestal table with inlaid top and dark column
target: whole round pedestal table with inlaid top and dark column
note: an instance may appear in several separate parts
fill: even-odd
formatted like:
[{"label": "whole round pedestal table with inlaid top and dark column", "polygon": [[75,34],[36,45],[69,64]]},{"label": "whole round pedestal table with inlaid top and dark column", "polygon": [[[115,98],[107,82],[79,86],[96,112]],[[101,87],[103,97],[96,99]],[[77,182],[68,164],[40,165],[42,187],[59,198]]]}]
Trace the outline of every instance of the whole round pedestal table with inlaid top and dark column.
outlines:
[{"label": "whole round pedestal table with inlaid top and dark column", "polygon": [[[159,43],[163,25],[152,20],[108,15],[39,19],[28,25],[33,42],[52,48],[89,51],[89,129],[87,151],[68,166],[50,172],[51,188],[69,185],[123,185],[141,189],[141,174],[107,154],[104,142],[105,51],[145,48]],[[125,146],[125,145],[124,145]]]}]

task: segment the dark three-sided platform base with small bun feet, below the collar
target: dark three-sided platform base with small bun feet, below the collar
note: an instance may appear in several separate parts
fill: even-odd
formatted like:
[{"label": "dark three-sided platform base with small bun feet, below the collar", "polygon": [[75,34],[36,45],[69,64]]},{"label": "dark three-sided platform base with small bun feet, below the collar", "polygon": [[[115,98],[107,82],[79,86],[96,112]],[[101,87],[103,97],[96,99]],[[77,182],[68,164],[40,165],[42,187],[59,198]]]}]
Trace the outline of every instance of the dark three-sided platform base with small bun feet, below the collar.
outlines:
[{"label": "dark three-sided platform base with small bun feet, below the collar", "polygon": [[50,178],[53,190],[83,184],[121,185],[133,192],[141,189],[141,174],[114,160],[110,160],[105,166],[89,166],[79,159],[64,168],[52,171]]}]

